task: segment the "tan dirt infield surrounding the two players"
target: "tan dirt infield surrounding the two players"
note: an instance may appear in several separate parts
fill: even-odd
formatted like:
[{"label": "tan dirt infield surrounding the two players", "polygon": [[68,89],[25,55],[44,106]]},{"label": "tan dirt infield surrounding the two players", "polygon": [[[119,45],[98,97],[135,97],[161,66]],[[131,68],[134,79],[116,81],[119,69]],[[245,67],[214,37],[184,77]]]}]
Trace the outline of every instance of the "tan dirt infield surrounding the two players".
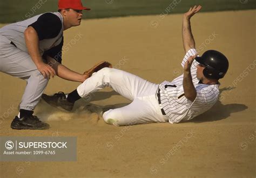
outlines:
[{"label": "tan dirt infield surrounding the two players", "polygon": [[[0,177],[255,177],[255,10],[199,13],[192,31],[199,54],[223,52],[230,69],[220,80],[220,101],[179,124],[107,125],[82,111],[87,101],[122,106],[111,89],[80,99],[72,113],[44,102],[36,114],[46,131],[10,128],[25,82],[0,73],[1,136],[77,137],[76,162],[1,162]],[[151,82],[182,73],[182,15],[84,20],[65,32],[63,64],[84,72],[100,60]],[[79,83],[51,79],[46,94],[69,92]]]}]

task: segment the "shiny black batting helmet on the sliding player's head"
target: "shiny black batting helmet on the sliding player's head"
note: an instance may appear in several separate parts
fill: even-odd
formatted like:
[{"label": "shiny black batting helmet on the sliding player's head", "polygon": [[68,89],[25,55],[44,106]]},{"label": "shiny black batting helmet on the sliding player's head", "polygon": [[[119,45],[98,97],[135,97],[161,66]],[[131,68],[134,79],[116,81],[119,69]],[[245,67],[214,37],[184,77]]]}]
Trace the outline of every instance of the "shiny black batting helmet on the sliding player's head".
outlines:
[{"label": "shiny black batting helmet on the sliding player's head", "polygon": [[228,60],[226,56],[215,50],[208,50],[196,61],[205,66],[203,74],[208,79],[221,79],[227,73]]}]

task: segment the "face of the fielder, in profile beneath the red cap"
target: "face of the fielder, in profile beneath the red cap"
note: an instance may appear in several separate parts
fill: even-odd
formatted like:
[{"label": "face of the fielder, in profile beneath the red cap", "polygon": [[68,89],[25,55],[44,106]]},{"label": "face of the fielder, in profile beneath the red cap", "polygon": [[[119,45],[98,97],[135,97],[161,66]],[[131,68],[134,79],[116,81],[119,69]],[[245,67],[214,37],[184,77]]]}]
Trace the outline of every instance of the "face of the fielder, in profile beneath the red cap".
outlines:
[{"label": "face of the fielder, in profile beneath the red cap", "polygon": [[66,17],[71,26],[78,26],[83,16],[82,10],[70,9],[66,12]]}]

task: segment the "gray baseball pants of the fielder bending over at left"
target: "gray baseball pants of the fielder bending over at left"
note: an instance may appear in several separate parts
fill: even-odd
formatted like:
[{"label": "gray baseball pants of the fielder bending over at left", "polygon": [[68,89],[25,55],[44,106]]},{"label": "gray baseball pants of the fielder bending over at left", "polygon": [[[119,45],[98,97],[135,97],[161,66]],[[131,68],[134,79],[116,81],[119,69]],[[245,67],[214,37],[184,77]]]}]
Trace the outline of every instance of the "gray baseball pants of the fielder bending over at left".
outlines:
[{"label": "gray baseball pants of the fielder bending over at left", "polygon": [[35,109],[49,80],[39,72],[28,53],[12,45],[3,35],[0,35],[0,71],[26,81],[19,108]]}]

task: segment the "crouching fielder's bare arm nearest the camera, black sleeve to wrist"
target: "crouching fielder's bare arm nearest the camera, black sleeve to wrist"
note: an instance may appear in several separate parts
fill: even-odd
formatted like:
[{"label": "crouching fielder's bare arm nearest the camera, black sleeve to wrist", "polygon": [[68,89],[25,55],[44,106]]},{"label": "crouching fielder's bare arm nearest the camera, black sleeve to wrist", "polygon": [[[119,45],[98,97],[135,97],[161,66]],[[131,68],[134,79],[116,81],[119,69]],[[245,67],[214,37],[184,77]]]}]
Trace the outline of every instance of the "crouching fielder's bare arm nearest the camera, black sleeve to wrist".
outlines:
[{"label": "crouching fielder's bare arm nearest the camera, black sleeve to wrist", "polygon": [[35,29],[29,26],[24,32],[26,47],[28,48],[29,55],[31,59],[38,67],[40,63],[43,62],[42,56],[39,52],[39,39]]}]

